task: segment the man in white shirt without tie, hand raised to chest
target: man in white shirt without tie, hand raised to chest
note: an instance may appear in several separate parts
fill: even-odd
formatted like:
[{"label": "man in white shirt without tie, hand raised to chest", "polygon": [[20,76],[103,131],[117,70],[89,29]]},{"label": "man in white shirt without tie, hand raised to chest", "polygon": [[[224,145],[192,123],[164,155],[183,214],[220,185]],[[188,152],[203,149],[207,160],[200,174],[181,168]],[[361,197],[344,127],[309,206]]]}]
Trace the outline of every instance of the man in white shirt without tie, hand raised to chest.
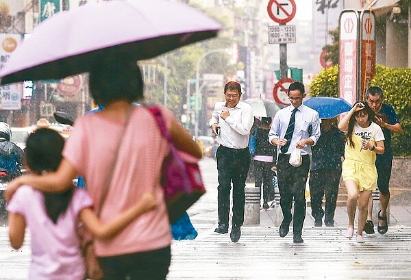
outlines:
[{"label": "man in white shirt without tie, hand raised to chest", "polygon": [[219,227],[216,233],[228,233],[229,194],[233,183],[232,242],[238,242],[244,222],[245,179],[250,166],[249,135],[254,123],[253,110],[241,102],[241,86],[229,81],[224,87],[225,101],[217,102],[210,119],[210,128],[219,136],[216,152],[219,171]]}]

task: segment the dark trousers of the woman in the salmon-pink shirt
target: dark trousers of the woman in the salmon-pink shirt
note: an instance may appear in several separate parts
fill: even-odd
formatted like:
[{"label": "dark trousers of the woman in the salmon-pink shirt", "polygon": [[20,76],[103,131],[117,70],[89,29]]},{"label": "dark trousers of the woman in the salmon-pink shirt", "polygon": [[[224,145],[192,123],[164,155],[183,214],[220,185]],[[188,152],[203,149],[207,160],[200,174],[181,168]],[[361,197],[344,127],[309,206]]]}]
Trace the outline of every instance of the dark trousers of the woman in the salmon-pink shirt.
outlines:
[{"label": "dark trousers of the woman in the salmon-pink shirt", "polygon": [[99,257],[103,279],[106,280],[164,280],[170,263],[170,246],[154,251]]}]

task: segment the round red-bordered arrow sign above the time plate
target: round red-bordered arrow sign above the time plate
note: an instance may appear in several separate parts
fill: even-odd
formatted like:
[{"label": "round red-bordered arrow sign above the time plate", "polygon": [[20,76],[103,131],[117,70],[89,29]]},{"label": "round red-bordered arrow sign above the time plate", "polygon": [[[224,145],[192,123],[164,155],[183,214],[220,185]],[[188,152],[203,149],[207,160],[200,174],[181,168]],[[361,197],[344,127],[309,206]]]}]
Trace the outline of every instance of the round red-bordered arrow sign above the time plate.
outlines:
[{"label": "round red-bordered arrow sign above the time plate", "polygon": [[296,11],[294,0],[270,0],[269,5],[267,5],[270,18],[279,24],[286,24],[291,21]]}]

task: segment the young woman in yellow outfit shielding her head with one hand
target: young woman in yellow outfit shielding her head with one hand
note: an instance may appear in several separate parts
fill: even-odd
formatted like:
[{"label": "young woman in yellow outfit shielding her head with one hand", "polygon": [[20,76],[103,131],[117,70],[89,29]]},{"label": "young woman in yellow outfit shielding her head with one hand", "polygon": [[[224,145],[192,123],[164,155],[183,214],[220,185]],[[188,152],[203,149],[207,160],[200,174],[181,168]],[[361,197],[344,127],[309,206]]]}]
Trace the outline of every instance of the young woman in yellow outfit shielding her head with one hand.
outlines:
[{"label": "young woman in yellow outfit shielding her head with one hand", "polygon": [[364,243],[364,229],[367,205],[371,192],[377,188],[376,153],[384,153],[384,134],[375,123],[375,113],[366,102],[360,101],[338,124],[338,129],[347,133],[345,142],[345,160],[343,162],[343,180],[347,189],[348,228],[346,238],[352,238],[354,218],[358,207],[357,242]]}]

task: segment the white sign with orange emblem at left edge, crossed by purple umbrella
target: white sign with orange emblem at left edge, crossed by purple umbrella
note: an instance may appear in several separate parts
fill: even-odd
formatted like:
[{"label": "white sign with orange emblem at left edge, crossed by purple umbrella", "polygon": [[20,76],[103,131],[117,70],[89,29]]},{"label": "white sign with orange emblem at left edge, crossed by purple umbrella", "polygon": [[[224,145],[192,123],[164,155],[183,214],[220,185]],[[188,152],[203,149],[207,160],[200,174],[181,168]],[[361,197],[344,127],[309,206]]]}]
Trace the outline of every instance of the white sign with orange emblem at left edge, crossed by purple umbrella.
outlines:
[{"label": "white sign with orange emblem at left edge, crossed by purple umbrella", "polygon": [[[0,69],[21,41],[20,34],[0,34]],[[0,110],[20,110],[23,83],[0,86]]]}]

